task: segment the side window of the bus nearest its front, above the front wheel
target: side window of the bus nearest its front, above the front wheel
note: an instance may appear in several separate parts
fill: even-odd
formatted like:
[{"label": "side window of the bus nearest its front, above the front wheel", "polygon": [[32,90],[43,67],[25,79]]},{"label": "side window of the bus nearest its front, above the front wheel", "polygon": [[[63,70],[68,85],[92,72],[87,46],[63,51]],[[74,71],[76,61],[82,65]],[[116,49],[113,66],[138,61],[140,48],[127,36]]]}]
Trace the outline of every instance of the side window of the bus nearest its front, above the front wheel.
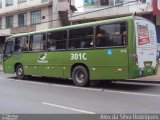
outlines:
[{"label": "side window of the bus nearest its front, above the front wheel", "polygon": [[28,36],[18,37],[15,39],[14,51],[28,51]]}]

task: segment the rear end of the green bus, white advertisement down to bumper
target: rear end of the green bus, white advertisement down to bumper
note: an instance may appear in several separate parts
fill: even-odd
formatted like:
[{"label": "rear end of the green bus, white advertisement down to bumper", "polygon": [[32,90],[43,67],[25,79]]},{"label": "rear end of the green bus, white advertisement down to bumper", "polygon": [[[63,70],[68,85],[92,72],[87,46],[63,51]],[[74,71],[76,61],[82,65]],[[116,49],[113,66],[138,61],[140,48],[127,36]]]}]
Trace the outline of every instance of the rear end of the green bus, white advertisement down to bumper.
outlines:
[{"label": "rear end of the green bus, white advertisement down to bumper", "polygon": [[157,72],[157,37],[153,23],[146,19],[135,19],[136,65],[138,77],[154,75]]}]

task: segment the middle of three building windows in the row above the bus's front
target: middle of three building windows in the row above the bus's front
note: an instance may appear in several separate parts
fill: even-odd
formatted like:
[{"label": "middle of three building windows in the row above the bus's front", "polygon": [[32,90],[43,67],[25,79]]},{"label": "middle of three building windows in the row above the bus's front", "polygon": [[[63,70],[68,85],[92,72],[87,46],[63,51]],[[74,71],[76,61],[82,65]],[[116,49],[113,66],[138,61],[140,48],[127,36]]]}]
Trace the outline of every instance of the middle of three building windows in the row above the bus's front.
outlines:
[{"label": "middle of three building windows in the row above the bus's front", "polygon": [[23,13],[23,14],[19,14],[18,15],[18,26],[22,27],[27,25],[27,14]]}]

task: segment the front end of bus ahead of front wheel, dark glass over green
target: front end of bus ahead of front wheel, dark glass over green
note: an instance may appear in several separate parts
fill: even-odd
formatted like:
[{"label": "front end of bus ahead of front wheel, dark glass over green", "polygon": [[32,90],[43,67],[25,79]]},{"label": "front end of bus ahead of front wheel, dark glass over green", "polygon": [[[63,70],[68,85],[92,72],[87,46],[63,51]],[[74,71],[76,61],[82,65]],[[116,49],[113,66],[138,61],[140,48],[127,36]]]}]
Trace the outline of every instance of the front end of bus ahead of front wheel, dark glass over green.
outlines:
[{"label": "front end of bus ahead of front wheel, dark glass over green", "polygon": [[4,49],[4,57],[3,57],[3,70],[6,73],[14,73],[13,66],[13,53],[14,53],[14,38],[10,38],[7,40]]}]

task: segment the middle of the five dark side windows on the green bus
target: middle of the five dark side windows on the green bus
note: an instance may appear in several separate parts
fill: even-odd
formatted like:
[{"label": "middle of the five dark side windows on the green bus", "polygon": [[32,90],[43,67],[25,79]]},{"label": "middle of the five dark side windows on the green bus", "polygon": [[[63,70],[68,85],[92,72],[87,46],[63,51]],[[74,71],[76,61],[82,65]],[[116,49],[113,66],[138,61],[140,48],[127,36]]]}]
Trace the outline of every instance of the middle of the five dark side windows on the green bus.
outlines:
[{"label": "middle of the five dark side windows on the green bus", "polygon": [[47,48],[54,46],[56,50],[66,49],[67,31],[57,31],[48,34]]}]

